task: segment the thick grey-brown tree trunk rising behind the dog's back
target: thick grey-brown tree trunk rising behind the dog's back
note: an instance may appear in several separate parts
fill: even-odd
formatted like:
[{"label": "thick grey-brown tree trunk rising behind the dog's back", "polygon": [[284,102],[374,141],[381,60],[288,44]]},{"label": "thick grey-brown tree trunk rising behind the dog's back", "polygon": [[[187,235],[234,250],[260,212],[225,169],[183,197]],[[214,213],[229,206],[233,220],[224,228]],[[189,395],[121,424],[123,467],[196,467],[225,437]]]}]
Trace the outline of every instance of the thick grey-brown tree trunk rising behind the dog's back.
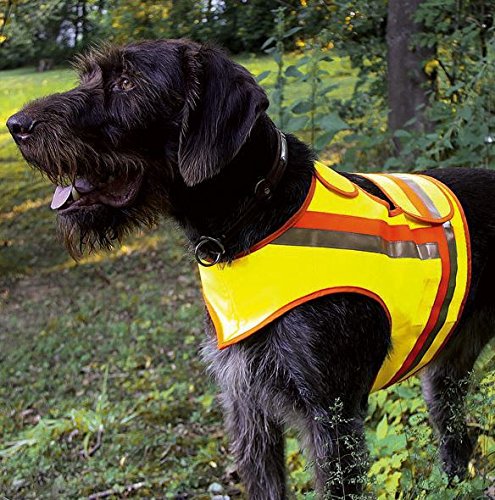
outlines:
[{"label": "thick grey-brown tree trunk rising behind the dog's back", "polygon": [[[435,57],[435,49],[413,46],[413,37],[421,26],[413,21],[422,0],[389,0],[387,16],[388,47],[388,126],[395,132],[408,128],[424,132],[429,129],[425,116],[428,94],[433,82],[423,70],[424,63]],[[405,124],[415,118],[414,123]],[[394,138],[396,153],[400,141]]]}]

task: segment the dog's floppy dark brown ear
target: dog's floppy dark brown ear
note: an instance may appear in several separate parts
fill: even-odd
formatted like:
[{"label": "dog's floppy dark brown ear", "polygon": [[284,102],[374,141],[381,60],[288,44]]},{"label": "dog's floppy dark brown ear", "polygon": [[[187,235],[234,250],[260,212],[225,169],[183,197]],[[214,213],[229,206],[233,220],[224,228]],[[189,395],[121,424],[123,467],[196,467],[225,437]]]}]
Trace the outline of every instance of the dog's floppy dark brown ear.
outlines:
[{"label": "dog's floppy dark brown ear", "polygon": [[179,171],[188,186],[214,175],[239,152],[268,98],[251,74],[220,50],[186,51],[186,102]]}]

